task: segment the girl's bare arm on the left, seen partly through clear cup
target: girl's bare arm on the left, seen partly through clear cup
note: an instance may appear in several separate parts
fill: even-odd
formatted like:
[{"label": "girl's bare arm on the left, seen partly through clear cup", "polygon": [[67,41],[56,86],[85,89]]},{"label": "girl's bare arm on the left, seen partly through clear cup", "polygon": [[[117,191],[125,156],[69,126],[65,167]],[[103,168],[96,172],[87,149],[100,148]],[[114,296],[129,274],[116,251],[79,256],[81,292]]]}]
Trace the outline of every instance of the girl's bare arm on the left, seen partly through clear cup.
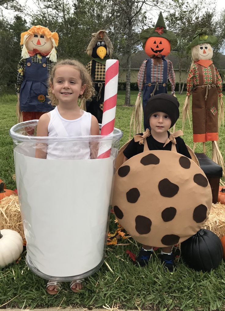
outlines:
[{"label": "girl's bare arm on the left, seen partly through clear cup", "polygon": [[[43,114],[37,126],[37,136],[48,136],[48,123],[50,118],[48,114]],[[39,159],[46,159],[47,156],[47,144],[46,143],[37,143],[36,144],[36,151],[35,151],[35,158]]]}]

